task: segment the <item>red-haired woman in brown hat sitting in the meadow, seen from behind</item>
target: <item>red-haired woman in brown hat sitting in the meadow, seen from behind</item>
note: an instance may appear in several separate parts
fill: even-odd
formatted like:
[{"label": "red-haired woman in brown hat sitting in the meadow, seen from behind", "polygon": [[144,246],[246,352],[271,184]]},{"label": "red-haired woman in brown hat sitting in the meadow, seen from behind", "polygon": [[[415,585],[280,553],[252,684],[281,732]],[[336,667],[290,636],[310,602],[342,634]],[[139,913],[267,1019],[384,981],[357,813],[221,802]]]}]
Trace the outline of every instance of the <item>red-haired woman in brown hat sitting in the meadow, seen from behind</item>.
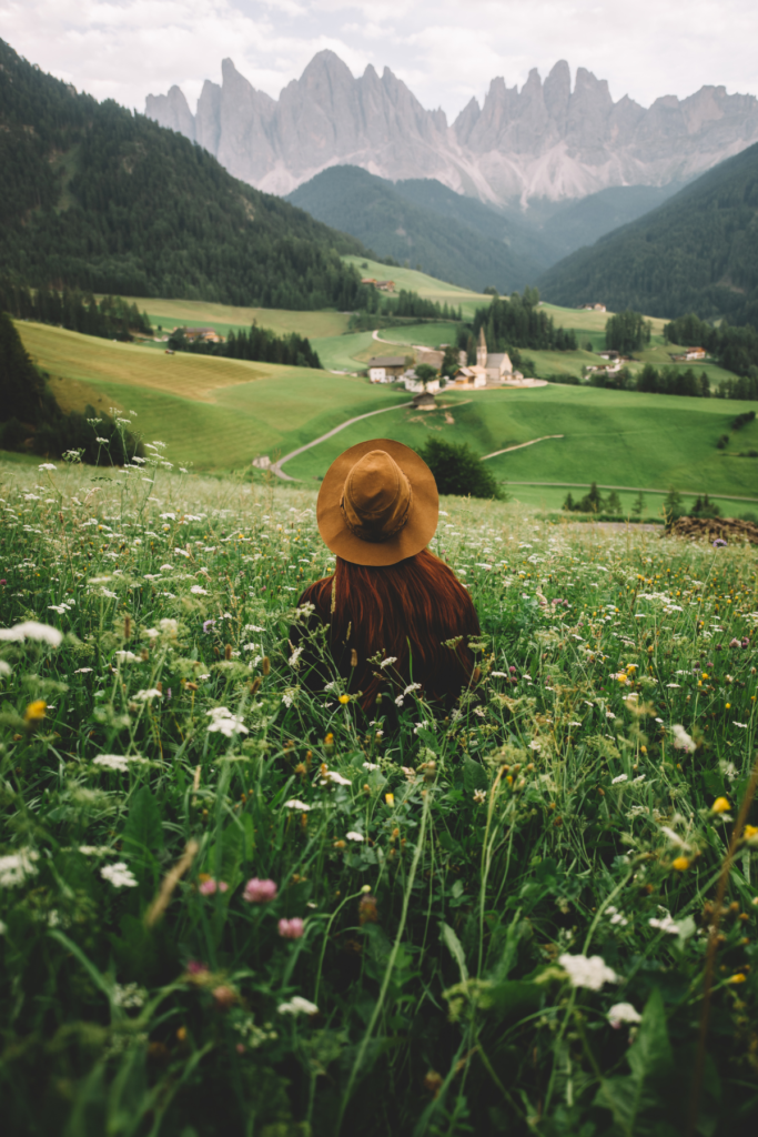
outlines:
[{"label": "red-haired woman in brown hat sitting in the meadow, seen from behind", "polygon": [[314,611],[291,632],[306,686],[333,678],[326,653],[368,713],[389,711],[411,683],[444,707],[470,684],[480,625],[466,589],[426,548],[438,515],[434,475],[401,442],[359,442],[332,463],[317,518],[336,567],[302,594]]}]

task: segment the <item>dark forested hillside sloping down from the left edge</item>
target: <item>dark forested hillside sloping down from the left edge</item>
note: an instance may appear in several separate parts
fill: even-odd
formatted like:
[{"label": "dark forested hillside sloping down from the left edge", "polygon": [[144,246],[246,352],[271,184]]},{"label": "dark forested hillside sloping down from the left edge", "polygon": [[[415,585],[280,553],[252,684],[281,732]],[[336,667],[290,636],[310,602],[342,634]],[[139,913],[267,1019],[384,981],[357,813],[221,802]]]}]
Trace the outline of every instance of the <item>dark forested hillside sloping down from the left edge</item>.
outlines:
[{"label": "dark forested hillside sloping down from the left edge", "polygon": [[363,254],[209,153],[0,40],[0,264],[32,288],[353,307]]}]

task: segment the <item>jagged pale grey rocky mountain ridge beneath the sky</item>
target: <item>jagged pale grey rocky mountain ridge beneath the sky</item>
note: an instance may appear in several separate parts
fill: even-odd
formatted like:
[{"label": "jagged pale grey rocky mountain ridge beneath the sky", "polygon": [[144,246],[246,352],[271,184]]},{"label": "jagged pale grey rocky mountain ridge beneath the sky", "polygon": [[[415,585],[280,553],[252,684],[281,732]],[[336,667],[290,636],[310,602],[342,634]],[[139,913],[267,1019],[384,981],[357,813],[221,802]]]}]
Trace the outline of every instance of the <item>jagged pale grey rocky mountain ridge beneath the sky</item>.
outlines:
[{"label": "jagged pale grey rocky mountain ridge beneath the sky", "polygon": [[448,124],[389,68],[358,78],[319,51],[278,100],[257,91],[231,59],[206,80],[192,115],[178,86],[148,96],[148,117],[199,142],[242,181],[286,194],[333,165],[390,181],[435,177],[493,205],[583,198],[614,185],[684,182],[758,140],[758,100],[702,86],[644,108],[613,101],[605,80],[565,60],[544,83],[494,78]]}]

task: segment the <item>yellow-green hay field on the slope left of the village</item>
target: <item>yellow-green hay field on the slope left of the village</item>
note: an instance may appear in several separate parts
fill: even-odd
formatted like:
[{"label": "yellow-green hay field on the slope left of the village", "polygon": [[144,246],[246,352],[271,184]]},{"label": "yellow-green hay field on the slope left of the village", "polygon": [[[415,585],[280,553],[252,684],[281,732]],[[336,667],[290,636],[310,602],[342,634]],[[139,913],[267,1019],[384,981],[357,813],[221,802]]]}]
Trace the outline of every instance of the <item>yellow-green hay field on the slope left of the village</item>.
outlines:
[{"label": "yellow-green hay field on the slope left of the village", "polygon": [[309,367],[167,356],[42,324],[16,326],[65,410],[88,402],[133,410],[142,437],[165,441],[174,460],[199,470],[284,454],[355,415],[407,401],[405,391]]}]

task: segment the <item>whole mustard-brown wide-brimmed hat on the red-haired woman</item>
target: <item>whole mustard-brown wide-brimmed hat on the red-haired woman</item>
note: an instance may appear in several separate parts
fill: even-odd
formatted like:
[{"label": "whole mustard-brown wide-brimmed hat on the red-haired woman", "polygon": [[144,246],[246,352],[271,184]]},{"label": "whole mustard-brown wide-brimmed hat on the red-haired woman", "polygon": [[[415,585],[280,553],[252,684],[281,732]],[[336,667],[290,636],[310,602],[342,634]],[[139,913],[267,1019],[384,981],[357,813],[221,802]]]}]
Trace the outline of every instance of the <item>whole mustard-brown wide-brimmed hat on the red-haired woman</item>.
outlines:
[{"label": "whole mustard-brown wide-brimmed hat on the red-haired woman", "polygon": [[316,515],[324,541],[343,561],[394,565],[425,549],[440,499],[423,458],[389,438],[359,442],[335,458]]}]

